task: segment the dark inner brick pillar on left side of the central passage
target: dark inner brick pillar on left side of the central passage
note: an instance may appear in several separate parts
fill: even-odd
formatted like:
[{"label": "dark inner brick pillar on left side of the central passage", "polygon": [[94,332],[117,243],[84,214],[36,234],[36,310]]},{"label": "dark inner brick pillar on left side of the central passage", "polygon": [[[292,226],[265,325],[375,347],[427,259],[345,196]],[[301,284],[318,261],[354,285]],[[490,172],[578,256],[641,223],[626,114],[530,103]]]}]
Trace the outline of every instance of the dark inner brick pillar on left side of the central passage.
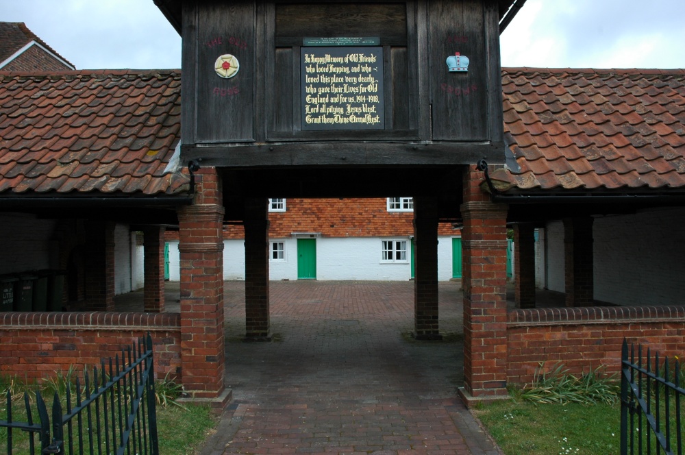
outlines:
[{"label": "dark inner brick pillar on left side of the central passage", "polygon": [[245,199],[245,338],[268,341],[269,199]]}]

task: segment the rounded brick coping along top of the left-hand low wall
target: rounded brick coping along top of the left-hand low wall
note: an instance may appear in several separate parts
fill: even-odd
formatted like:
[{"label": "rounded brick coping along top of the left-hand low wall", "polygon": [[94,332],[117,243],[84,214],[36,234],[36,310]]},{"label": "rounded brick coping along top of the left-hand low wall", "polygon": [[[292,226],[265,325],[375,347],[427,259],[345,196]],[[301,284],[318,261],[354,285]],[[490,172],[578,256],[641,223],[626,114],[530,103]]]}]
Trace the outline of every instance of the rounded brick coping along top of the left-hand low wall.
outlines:
[{"label": "rounded brick coping along top of the left-hand low wall", "polygon": [[150,331],[179,329],[180,313],[144,312],[0,312],[1,328],[25,329],[145,329]]}]

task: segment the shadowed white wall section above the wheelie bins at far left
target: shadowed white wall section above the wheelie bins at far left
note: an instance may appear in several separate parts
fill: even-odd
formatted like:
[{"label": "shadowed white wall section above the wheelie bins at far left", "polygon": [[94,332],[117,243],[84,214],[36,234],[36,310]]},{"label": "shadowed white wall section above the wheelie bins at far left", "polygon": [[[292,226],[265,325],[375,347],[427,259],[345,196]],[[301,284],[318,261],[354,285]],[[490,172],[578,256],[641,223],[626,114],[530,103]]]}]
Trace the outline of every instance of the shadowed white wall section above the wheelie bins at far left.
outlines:
[{"label": "shadowed white wall section above the wheelie bins at far left", "polygon": [[[54,256],[51,241],[55,221],[38,219],[36,215],[8,213],[0,217],[0,274],[49,269]],[[8,239],[12,241],[8,241]]]}]

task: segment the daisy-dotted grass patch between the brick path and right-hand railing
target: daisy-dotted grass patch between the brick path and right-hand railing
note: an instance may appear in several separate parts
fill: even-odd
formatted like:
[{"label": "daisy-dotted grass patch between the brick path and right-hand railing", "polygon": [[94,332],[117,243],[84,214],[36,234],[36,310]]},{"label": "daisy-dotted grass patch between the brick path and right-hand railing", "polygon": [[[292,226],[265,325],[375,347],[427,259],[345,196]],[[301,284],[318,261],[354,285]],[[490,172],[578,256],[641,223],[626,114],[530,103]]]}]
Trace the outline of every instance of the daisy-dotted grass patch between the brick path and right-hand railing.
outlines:
[{"label": "daisy-dotted grass patch between the brick path and right-hand railing", "polygon": [[473,413],[506,455],[619,453],[621,406],[505,400]]}]

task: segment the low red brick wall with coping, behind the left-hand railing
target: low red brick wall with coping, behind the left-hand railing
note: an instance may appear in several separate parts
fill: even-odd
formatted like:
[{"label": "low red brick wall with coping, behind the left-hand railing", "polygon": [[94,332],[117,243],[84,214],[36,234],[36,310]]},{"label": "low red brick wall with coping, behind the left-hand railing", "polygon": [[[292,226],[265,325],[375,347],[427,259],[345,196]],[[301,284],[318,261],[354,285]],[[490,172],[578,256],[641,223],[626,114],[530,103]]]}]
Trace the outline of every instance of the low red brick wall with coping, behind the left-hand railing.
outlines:
[{"label": "low red brick wall with coping, behind the left-hand railing", "polygon": [[0,373],[30,381],[99,367],[150,333],[155,376],[181,366],[181,315],[138,312],[0,312]]}]

